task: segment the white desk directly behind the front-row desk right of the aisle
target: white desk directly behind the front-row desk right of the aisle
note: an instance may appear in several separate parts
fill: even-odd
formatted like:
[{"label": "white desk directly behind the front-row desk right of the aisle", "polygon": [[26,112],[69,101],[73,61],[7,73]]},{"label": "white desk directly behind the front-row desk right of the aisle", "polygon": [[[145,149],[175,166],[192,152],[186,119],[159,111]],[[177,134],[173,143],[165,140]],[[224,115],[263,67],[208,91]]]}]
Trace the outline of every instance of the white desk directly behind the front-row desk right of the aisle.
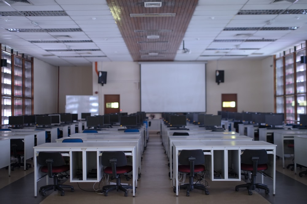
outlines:
[{"label": "white desk directly behind the front-row desk right of the aisle", "polygon": [[252,141],[250,137],[245,135],[188,135],[188,136],[169,136],[169,171],[170,171],[170,179],[173,178],[173,158],[172,158],[172,148],[174,142],[206,142],[206,141]]}]

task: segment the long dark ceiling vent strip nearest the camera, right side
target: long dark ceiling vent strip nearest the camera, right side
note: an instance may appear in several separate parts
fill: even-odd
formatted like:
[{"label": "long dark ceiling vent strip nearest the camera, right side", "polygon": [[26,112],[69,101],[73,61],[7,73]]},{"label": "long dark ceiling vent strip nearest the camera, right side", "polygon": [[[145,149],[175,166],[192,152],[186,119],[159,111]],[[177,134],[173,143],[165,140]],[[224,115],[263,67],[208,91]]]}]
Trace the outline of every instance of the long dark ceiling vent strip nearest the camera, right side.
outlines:
[{"label": "long dark ceiling vent strip nearest the camera, right side", "polygon": [[307,9],[240,10],[237,15],[306,14]]}]

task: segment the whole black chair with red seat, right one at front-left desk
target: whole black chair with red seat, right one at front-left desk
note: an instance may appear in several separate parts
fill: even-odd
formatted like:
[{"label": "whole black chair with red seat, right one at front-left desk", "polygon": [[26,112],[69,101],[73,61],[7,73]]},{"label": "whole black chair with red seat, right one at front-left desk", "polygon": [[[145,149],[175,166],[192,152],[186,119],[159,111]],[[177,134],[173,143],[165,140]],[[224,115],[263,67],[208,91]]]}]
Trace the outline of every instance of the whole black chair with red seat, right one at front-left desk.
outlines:
[{"label": "whole black chair with red seat, right one at front-left desk", "polygon": [[121,151],[106,151],[102,153],[101,156],[102,165],[106,167],[104,169],[105,174],[112,175],[116,178],[116,185],[106,185],[103,186],[103,193],[108,196],[109,191],[123,191],[125,196],[128,196],[127,189],[132,189],[132,186],[120,184],[120,175],[126,174],[132,171],[132,166],[127,165],[127,158],[124,152]]}]

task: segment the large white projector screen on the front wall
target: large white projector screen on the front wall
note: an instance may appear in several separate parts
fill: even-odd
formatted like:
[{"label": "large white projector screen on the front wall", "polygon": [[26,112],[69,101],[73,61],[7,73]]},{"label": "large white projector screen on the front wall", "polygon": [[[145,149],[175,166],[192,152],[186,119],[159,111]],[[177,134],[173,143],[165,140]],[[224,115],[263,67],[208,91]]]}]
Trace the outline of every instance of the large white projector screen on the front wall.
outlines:
[{"label": "large white projector screen on the front wall", "polygon": [[141,64],[141,111],[206,112],[204,62]]}]

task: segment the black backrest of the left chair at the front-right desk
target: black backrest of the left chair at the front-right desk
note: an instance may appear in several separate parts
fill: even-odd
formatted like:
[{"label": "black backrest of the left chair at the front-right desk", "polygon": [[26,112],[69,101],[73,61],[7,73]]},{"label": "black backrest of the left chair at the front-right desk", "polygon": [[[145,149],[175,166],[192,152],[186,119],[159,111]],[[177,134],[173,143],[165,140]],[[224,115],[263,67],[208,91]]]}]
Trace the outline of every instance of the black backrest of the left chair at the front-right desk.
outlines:
[{"label": "black backrest of the left chair at the front-right desk", "polygon": [[178,161],[181,165],[190,165],[190,157],[195,157],[194,165],[205,163],[203,150],[181,150]]}]

